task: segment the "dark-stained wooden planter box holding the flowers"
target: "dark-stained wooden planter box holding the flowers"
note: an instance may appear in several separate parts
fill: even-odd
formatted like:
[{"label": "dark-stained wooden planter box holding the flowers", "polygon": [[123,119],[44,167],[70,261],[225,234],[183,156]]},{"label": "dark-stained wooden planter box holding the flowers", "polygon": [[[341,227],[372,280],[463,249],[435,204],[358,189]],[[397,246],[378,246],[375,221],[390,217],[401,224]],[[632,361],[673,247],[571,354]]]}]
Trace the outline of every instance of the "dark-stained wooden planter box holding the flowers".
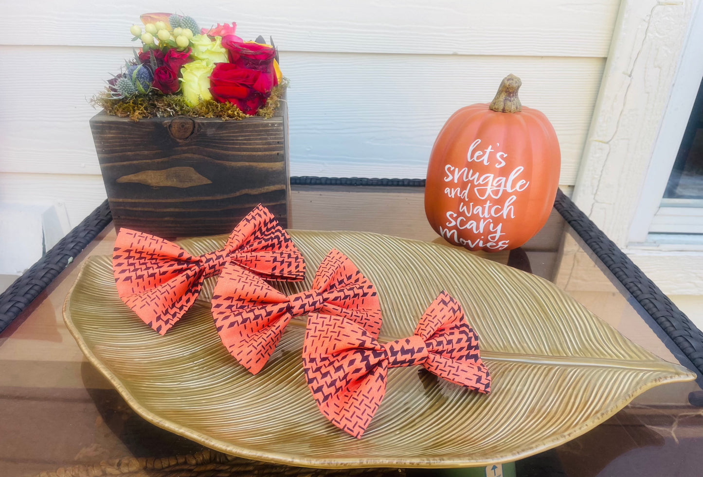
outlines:
[{"label": "dark-stained wooden planter box holding the flowers", "polygon": [[290,226],[288,114],[242,121],[90,120],[115,227],[162,237],[228,234],[259,203]]}]

